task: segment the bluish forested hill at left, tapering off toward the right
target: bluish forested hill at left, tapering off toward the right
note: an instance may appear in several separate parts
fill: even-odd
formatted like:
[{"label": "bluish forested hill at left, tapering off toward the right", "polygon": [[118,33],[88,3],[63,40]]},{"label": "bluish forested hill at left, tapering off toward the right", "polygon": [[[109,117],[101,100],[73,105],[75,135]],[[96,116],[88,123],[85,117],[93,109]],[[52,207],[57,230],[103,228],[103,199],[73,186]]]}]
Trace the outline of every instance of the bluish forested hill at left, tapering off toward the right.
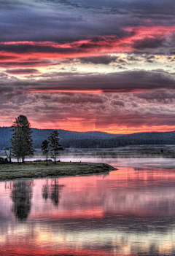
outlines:
[{"label": "bluish forested hill at left, tapering off toward the right", "polygon": [[[9,139],[12,136],[12,128],[10,127],[0,127],[0,150],[4,150],[5,147],[9,147]],[[36,129],[32,128],[32,136],[34,140],[34,148],[40,148],[42,141],[50,136],[52,129]],[[65,131],[58,130],[59,136],[61,137],[61,144],[63,141],[77,141],[77,140],[87,140],[87,139],[112,139],[116,138],[116,134],[103,133],[100,131],[89,131],[79,133],[77,131]]]}]

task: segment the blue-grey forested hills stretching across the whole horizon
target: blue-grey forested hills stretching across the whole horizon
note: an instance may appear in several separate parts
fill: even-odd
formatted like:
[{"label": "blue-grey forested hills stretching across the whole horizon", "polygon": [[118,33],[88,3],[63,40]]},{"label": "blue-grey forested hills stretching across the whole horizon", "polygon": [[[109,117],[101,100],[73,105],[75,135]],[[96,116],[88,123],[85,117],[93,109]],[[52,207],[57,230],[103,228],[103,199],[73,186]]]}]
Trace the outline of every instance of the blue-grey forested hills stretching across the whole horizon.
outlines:
[{"label": "blue-grey forested hills stretching across the whole horizon", "polygon": [[[0,128],[0,150],[9,147],[9,139],[12,136],[11,128]],[[34,139],[34,148],[40,148],[42,141],[50,136],[51,129],[32,128]],[[75,148],[107,148],[123,147],[125,145],[136,144],[175,144],[175,131],[160,133],[133,133],[128,135],[117,135],[102,133],[98,131],[74,132],[58,130],[63,147]]]}]

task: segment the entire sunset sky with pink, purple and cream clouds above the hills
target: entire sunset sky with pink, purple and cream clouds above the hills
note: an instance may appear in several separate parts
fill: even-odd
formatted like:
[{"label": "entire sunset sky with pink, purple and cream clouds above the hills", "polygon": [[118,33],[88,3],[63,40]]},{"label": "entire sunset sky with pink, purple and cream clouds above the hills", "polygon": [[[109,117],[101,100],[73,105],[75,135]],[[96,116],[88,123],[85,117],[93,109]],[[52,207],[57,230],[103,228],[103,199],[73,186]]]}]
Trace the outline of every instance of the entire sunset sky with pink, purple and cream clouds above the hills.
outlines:
[{"label": "entire sunset sky with pink, purple and cream clouds above the hills", "polygon": [[1,0],[0,126],[175,131],[174,0]]}]

